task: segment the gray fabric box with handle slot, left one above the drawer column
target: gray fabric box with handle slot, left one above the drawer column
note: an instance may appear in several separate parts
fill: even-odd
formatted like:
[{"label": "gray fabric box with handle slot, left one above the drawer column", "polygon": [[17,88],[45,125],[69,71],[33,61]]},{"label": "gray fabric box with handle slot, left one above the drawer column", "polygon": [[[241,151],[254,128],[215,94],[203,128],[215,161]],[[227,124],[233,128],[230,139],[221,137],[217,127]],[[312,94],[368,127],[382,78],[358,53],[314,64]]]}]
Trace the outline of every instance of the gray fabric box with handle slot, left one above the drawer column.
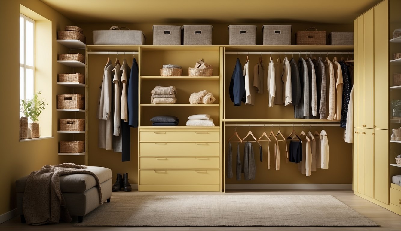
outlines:
[{"label": "gray fabric box with handle slot, left one above the drawer column", "polygon": [[153,25],[153,45],[181,45],[181,26]]}]

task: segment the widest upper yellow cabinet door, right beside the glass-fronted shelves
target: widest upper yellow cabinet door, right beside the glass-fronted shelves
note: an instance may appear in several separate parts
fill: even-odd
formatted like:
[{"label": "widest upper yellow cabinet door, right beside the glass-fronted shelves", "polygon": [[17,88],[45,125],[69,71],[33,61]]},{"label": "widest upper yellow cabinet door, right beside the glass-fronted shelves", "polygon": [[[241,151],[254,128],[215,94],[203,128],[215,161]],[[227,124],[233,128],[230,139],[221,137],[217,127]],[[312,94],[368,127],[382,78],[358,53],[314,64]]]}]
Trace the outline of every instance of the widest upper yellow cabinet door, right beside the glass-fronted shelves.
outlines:
[{"label": "widest upper yellow cabinet door, right beside the glass-fronted shelves", "polygon": [[375,6],[375,118],[374,128],[389,129],[389,10],[388,3]]}]

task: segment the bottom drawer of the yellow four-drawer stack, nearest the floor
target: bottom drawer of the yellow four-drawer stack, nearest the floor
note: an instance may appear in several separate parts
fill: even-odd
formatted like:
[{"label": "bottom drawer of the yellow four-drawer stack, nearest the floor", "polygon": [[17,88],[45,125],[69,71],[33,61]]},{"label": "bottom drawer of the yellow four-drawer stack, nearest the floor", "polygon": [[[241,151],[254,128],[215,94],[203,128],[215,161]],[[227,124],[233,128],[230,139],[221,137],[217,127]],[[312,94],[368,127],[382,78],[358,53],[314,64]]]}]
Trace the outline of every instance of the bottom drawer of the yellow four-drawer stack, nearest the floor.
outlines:
[{"label": "bottom drawer of the yellow four-drawer stack, nearest the floor", "polygon": [[220,170],[140,170],[140,184],[219,184]]}]

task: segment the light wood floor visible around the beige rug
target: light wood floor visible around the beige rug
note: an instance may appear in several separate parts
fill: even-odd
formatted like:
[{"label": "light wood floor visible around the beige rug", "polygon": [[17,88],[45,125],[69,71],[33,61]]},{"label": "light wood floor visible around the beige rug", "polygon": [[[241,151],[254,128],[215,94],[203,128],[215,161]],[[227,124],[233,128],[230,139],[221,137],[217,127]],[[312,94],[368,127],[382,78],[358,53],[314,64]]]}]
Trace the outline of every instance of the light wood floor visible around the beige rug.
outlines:
[{"label": "light wood floor visible around the beige rug", "polygon": [[[221,192],[113,192],[113,195],[137,195],[137,194],[158,194],[158,195],[217,195]],[[20,223],[20,218],[15,217],[0,224],[1,231],[31,231],[31,230],[61,230],[61,231],[264,231],[264,230],[379,230],[379,231],[400,231],[401,216],[375,205],[365,199],[354,195],[350,190],[252,190],[234,191],[230,190],[225,194],[247,194],[247,195],[332,195],[352,209],[365,215],[380,227],[74,227],[77,222],[75,218],[72,223],[59,223],[53,225],[31,226]],[[84,217],[85,219],[85,217]]]}]

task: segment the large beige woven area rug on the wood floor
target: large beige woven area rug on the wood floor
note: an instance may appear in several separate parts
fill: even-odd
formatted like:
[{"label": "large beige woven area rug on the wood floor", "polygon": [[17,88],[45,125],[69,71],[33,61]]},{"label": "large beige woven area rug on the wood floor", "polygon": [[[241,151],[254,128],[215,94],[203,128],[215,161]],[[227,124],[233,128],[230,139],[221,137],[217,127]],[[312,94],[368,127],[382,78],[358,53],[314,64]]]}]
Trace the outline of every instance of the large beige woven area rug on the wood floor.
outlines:
[{"label": "large beige woven area rug on the wood floor", "polygon": [[378,226],[330,195],[113,195],[75,226]]}]

